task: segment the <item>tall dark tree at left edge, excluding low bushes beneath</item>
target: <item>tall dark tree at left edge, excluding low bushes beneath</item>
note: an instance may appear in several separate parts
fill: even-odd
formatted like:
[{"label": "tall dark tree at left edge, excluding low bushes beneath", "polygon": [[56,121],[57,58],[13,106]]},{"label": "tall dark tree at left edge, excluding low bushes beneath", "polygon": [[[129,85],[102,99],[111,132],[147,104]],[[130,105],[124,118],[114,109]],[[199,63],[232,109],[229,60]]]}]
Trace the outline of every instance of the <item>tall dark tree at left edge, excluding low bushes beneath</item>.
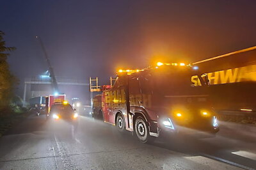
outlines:
[{"label": "tall dark tree at left edge, excluding low bushes beneath", "polygon": [[9,52],[15,50],[15,47],[6,47],[3,36],[3,31],[0,31],[0,110],[9,106],[16,81],[7,63]]}]

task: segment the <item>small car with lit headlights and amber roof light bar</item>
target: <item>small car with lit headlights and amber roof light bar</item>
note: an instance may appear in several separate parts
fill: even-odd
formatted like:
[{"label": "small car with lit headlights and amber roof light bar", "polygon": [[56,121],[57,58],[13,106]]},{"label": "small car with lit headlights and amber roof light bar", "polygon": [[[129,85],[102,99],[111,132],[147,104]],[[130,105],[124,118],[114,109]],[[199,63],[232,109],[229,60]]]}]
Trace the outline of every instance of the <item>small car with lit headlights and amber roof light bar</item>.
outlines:
[{"label": "small car with lit headlights and amber roof light bar", "polygon": [[54,120],[77,120],[78,113],[67,102],[53,104],[49,115]]}]

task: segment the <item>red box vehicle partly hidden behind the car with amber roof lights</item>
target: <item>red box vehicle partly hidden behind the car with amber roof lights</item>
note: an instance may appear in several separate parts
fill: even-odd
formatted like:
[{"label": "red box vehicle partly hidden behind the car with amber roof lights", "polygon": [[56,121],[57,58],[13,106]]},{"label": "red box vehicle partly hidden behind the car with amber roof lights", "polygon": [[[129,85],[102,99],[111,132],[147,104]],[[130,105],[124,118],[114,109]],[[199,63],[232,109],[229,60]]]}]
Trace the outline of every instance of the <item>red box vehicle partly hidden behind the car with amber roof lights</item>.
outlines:
[{"label": "red box vehicle partly hidden behind the car with amber roof lights", "polygon": [[49,95],[45,98],[45,112],[49,116],[52,105],[60,103],[62,104],[66,99],[66,95]]}]

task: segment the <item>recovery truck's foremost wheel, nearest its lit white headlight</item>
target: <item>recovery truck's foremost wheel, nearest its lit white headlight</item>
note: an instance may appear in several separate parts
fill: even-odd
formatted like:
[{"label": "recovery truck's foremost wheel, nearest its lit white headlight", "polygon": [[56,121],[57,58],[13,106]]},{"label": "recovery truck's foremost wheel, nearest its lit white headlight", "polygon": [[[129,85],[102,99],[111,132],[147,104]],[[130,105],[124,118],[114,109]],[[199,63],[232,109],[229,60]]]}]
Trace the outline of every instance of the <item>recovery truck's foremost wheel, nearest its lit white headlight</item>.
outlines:
[{"label": "recovery truck's foremost wheel, nearest its lit white headlight", "polygon": [[135,120],[135,131],[138,139],[140,139],[142,143],[147,143],[150,141],[148,125],[141,116],[138,116],[138,118]]}]

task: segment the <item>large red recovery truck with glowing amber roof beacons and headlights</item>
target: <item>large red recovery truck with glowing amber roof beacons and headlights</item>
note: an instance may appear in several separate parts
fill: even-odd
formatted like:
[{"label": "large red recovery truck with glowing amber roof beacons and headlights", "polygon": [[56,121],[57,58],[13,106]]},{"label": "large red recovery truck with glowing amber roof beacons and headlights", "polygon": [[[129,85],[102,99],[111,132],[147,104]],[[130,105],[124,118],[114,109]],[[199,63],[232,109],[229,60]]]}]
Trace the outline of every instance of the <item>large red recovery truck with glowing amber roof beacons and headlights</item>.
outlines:
[{"label": "large red recovery truck with glowing amber roof beacons and headlights", "polygon": [[[194,86],[196,75],[202,86]],[[119,70],[113,86],[104,88],[99,109],[104,122],[118,131],[134,132],[147,143],[160,134],[218,132],[218,121],[209,101],[207,75],[184,63],[157,63],[143,70]]]}]

